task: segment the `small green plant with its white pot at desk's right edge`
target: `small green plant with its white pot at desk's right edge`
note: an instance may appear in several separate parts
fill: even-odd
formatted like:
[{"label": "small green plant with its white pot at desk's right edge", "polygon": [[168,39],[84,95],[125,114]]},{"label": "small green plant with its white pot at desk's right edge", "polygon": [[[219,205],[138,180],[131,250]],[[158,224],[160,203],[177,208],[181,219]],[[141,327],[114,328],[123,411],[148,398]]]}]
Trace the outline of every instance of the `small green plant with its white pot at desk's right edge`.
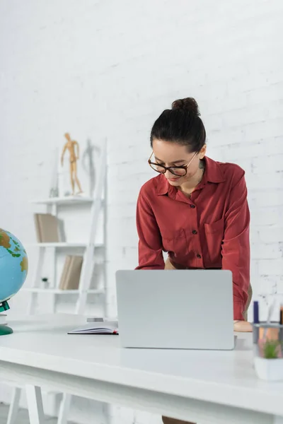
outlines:
[{"label": "small green plant with its white pot at desk's right edge", "polygon": [[283,380],[282,343],[278,340],[258,341],[255,356],[255,372],[260,379],[269,381]]}]

